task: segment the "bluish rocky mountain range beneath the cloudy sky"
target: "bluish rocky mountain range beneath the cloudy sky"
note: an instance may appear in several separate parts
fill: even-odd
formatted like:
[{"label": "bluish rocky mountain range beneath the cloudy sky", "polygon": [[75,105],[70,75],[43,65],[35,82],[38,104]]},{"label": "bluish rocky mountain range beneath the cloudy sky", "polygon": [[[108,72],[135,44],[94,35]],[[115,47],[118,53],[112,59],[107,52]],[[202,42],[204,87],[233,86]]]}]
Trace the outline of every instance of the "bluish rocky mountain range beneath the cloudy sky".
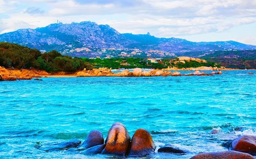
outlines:
[{"label": "bluish rocky mountain range beneath the cloudy sky", "polygon": [[147,33],[121,34],[109,25],[95,22],[50,24],[43,28],[19,29],[0,35],[0,41],[36,48],[42,52],[56,50],[65,52],[73,48],[137,48],[139,50],[161,50],[177,56],[202,57],[216,51],[256,50],[256,46],[236,41],[192,42],[185,39],[158,38]]}]

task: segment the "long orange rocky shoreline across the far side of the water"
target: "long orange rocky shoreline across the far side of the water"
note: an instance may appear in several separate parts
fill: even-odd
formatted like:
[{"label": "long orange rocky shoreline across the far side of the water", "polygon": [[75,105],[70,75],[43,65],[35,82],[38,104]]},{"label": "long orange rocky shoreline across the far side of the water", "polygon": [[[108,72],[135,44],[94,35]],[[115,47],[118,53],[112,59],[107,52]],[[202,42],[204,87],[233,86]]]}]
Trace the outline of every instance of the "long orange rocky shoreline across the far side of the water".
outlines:
[{"label": "long orange rocky shoreline across the far side of the water", "polygon": [[[182,74],[180,72],[171,72],[179,70],[177,68],[168,68],[162,70],[144,70],[141,68],[135,68],[133,71],[123,70],[121,72],[114,73],[112,69],[108,68],[99,68],[93,70],[86,70],[75,72],[75,73],[67,73],[67,72],[56,72],[50,74],[43,70],[36,69],[6,69],[4,67],[0,67],[0,81],[16,81],[16,80],[31,80],[33,78],[38,77],[92,77],[92,76],[119,76],[119,77],[142,77],[142,76],[211,76],[213,74],[222,74],[220,70],[227,69],[218,69],[211,67],[200,67],[200,68],[188,68],[188,69],[180,69],[180,70],[192,70],[195,71],[189,74]],[[199,72],[202,70],[213,71],[212,73],[204,73]],[[215,72],[217,71],[217,72]]]}]

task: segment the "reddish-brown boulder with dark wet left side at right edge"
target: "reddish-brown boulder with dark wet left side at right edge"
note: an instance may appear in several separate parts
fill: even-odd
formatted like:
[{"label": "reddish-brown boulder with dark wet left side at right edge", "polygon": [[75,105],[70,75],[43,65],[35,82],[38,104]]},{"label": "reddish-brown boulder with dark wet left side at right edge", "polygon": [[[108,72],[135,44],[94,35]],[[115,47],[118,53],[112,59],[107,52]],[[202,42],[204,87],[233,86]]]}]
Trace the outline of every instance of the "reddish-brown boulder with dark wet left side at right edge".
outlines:
[{"label": "reddish-brown boulder with dark wet left side at right edge", "polygon": [[256,154],[256,136],[243,135],[232,141],[222,144],[226,148],[240,152],[246,152],[252,155]]}]

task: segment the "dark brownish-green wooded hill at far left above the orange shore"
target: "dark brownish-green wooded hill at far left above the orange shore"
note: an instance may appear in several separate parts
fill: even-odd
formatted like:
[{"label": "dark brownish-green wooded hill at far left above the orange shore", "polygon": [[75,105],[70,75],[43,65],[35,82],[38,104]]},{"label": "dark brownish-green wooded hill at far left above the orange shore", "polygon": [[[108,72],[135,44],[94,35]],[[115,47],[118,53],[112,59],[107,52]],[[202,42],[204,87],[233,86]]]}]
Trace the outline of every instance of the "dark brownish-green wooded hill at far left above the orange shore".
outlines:
[{"label": "dark brownish-green wooded hill at far left above the orange shore", "polygon": [[89,63],[63,56],[55,50],[42,54],[39,50],[6,42],[0,42],[0,66],[18,69],[36,68],[47,72],[76,72],[84,68],[92,69]]}]

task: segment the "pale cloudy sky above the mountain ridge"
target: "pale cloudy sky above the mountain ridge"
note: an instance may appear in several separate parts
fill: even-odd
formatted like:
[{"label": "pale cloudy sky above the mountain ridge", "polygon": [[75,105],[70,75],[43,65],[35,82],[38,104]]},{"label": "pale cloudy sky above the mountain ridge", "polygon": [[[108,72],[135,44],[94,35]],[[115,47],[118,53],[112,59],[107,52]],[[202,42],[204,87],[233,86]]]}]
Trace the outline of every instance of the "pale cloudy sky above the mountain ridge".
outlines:
[{"label": "pale cloudy sky above the mountain ridge", "polygon": [[0,34],[83,21],[119,33],[256,45],[256,0],[0,0]]}]

